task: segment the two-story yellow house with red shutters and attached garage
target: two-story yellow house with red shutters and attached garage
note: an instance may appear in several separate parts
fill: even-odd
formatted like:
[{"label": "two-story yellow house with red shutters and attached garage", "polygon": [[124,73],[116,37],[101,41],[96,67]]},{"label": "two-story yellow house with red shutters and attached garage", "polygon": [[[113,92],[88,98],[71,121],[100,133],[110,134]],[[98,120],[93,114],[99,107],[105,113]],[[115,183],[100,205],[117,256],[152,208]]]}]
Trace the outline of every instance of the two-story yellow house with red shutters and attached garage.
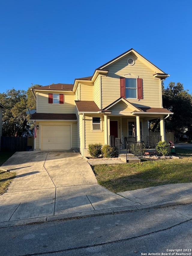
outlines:
[{"label": "two-story yellow house with red shutters and attached garage", "polygon": [[37,112],[31,120],[39,126],[35,150],[78,149],[85,156],[88,144],[109,144],[122,133],[140,141],[155,118],[165,140],[164,118],[173,114],[162,106],[161,81],[168,76],[131,49],[74,84],[32,89]]}]

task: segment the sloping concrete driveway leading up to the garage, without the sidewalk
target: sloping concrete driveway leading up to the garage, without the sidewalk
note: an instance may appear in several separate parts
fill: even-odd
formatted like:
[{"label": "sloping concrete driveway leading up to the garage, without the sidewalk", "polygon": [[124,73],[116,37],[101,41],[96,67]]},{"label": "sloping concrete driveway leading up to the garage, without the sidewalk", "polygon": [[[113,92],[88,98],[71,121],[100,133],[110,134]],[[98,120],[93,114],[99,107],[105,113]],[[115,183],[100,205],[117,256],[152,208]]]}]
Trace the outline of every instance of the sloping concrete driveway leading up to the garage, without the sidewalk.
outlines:
[{"label": "sloping concrete driveway leading up to the garage, without the sidewalk", "polygon": [[90,165],[75,150],[16,152],[0,168],[17,173],[0,196],[0,223],[134,209],[139,204],[98,185]]}]

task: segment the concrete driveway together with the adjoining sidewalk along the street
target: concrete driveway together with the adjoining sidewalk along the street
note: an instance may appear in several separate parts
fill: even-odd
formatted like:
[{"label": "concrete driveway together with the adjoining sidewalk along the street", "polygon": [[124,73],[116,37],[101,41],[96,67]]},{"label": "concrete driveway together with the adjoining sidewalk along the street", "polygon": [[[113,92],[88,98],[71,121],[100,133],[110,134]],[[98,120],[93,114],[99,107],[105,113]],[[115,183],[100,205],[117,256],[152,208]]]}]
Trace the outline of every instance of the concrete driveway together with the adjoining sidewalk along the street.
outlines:
[{"label": "concrete driveway together with the adjoining sidewalk along the street", "polygon": [[0,227],[192,203],[192,183],[114,194],[73,150],[16,152],[0,168],[17,173],[0,196]]}]

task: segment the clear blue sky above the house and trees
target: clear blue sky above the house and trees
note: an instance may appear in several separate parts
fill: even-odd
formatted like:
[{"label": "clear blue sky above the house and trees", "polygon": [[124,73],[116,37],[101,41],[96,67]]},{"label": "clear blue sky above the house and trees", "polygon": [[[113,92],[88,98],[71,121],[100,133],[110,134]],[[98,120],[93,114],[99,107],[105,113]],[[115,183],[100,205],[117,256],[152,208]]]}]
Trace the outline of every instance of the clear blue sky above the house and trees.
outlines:
[{"label": "clear blue sky above the house and trees", "polygon": [[0,93],[73,83],[134,48],[192,92],[192,1],[0,0]]}]

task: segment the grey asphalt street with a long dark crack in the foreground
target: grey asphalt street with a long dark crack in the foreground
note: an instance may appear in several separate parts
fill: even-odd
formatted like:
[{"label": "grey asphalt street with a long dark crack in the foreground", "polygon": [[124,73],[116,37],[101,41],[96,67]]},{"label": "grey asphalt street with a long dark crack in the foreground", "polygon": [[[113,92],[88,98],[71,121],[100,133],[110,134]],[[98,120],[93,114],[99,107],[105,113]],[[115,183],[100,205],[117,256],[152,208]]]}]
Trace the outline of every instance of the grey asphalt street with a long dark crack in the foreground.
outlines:
[{"label": "grey asphalt street with a long dark crack in the foreground", "polygon": [[192,204],[1,227],[0,236],[3,256],[191,255]]}]

